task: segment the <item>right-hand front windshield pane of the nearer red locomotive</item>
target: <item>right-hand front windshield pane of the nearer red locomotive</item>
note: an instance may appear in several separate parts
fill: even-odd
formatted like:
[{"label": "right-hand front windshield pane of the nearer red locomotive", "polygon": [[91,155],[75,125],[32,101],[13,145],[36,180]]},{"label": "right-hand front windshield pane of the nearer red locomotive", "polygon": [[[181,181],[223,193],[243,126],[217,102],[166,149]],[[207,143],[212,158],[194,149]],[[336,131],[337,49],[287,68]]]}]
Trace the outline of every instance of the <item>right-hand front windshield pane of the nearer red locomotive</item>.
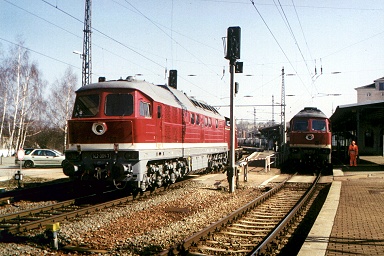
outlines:
[{"label": "right-hand front windshield pane of the nearer red locomotive", "polygon": [[131,94],[108,94],[105,101],[105,115],[130,116],[133,113]]}]

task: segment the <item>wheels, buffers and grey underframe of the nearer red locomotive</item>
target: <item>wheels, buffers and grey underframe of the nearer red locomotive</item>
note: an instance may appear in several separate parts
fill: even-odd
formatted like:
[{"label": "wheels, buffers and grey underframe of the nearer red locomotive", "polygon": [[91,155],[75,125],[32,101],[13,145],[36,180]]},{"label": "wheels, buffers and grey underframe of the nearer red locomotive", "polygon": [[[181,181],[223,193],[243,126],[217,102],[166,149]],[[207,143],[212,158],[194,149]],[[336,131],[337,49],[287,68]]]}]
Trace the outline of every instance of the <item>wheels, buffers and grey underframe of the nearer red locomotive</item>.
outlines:
[{"label": "wheels, buffers and grey underframe of the nearer red locomotive", "polygon": [[[167,151],[156,154],[144,150],[144,152],[139,152],[139,155],[144,155],[144,158],[136,161],[125,157],[128,152],[119,152],[117,155],[114,152],[82,152],[77,164],[66,160],[63,170],[66,175],[79,180],[104,180],[114,184],[124,182],[130,183],[130,187],[146,190],[148,187],[161,187],[165,184],[175,183],[177,179],[186,174],[196,173],[207,168],[220,169],[228,160],[226,153],[200,153],[188,158],[167,159],[165,152]],[[93,159],[91,155],[97,156],[97,159]],[[99,159],[98,157],[101,155],[115,156],[111,159]],[[145,156],[148,155],[157,155],[157,157],[145,159]]]}]

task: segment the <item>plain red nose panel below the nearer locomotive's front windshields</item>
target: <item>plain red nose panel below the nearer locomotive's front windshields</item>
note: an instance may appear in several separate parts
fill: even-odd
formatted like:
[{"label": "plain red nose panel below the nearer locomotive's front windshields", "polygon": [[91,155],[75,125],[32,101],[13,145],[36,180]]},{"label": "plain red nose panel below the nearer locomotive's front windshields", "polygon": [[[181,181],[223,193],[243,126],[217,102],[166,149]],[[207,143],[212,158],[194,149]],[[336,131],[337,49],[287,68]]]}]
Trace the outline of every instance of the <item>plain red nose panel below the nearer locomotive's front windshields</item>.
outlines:
[{"label": "plain red nose panel below the nearer locomotive's front windshields", "polygon": [[94,123],[93,120],[88,122],[69,120],[69,143],[133,143],[132,121],[105,121],[107,131],[102,135],[97,135],[92,131]]}]

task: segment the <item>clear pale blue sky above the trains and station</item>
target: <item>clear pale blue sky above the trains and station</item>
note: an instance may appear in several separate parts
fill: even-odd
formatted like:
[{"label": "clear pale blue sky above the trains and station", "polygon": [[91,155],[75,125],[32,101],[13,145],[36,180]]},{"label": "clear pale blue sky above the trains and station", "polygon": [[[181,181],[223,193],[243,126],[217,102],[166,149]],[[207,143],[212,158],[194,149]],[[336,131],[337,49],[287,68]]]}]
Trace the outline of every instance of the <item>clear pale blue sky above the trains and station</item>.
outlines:
[{"label": "clear pale blue sky above the trains and station", "polygon": [[[84,3],[0,0],[0,50],[21,37],[49,84],[71,66],[80,87],[82,62],[73,51],[82,51]],[[284,78],[286,94],[294,95],[286,97],[286,119],[306,106],[331,116],[356,102],[354,88],[384,76],[382,0],[93,0],[92,80],[142,74],[164,84],[165,70],[177,69],[180,90],[227,105],[222,37],[230,26],[241,27],[237,104],[271,104],[272,96],[279,104],[284,67],[293,74]],[[271,107],[255,108],[258,122],[272,119]],[[220,112],[229,115],[226,107]],[[254,108],[238,108],[236,117],[253,121]]]}]

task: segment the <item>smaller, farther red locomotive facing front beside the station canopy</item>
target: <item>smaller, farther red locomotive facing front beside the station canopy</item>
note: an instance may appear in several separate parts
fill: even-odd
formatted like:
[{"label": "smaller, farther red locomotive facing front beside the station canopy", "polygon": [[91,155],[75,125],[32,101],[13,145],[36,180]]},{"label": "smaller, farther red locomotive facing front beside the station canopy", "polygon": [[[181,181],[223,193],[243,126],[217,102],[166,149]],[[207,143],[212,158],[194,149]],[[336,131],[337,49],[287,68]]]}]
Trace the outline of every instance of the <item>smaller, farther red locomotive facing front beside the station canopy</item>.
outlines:
[{"label": "smaller, farther red locomotive facing front beside the station canopy", "polygon": [[306,107],[290,120],[288,130],[290,164],[316,170],[332,169],[332,133],[327,116],[317,108]]}]

